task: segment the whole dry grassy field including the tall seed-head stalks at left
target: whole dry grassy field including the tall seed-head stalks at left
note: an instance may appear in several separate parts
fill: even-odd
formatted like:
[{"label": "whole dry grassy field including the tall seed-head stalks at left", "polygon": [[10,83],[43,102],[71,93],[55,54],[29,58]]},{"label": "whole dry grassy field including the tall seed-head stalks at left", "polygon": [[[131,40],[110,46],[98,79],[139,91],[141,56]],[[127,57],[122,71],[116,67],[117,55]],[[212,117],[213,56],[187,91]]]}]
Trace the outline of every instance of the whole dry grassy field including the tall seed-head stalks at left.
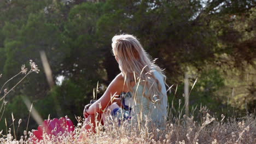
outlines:
[{"label": "whole dry grassy field including the tall seed-head stalks at left", "polygon": [[[38,73],[37,65],[30,61],[31,69],[21,67],[19,74],[26,74],[24,78],[32,73]],[[18,75],[19,75],[18,74]],[[1,75],[0,75],[1,77]],[[15,76],[14,76],[15,77]],[[13,79],[12,77],[11,79]],[[24,79],[22,78],[17,85]],[[8,82],[8,81],[7,81]],[[15,85],[14,89],[17,85]],[[194,83],[195,85],[195,83]],[[10,91],[11,91],[10,89]],[[2,89],[1,89],[2,91]],[[10,91],[3,89],[4,99]],[[4,100],[3,100],[4,104]],[[180,107],[180,105],[179,105]],[[183,106],[184,108],[185,106]],[[32,108],[32,105],[31,105]],[[30,112],[31,112],[30,108]],[[1,143],[256,143],[256,117],[255,113],[247,114],[244,117],[217,116],[210,112],[207,106],[200,106],[188,116],[184,115],[182,109],[168,109],[168,120],[164,129],[157,129],[149,126],[147,119],[144,124],[131,124],[129,121],[119,122],[117,118],[109,117],[109,121],[103,125],[98,125],[96,133],[83,131],[84,119],[77,117],[78,124],[72,134],[64,133],[58,136],[43,135],[42,141],[34,141],[33,131],[22,130],[14,127],[14,120],[11,127],[1,130]],[[4,109],[0,110],[3,112]],[[33,114],[32,114],[33,115]],[[13,115],[12,115],[13,116]],[[28,117],[30,119],[30,116]],[[2,120],[2,117],[0,121]],[[16,123],[16,122],[15,122]],[[21,119],[18,122],[20,125]],[[140,123],[140,122],[138,122]],[[6,119],[5,119],[6,124]],[[27,122],[27,127],[28,127]],[[6,124],[7,125],[7,124]],[[19,131],[24,131],[24,135],[18,135]],[[54,129],[56,130],[56,129]],[[53,132],[53,131],[52,131]],[[81,136],[82,135],[82,136]],[[79,139],[79,136],[82,139]]]}]

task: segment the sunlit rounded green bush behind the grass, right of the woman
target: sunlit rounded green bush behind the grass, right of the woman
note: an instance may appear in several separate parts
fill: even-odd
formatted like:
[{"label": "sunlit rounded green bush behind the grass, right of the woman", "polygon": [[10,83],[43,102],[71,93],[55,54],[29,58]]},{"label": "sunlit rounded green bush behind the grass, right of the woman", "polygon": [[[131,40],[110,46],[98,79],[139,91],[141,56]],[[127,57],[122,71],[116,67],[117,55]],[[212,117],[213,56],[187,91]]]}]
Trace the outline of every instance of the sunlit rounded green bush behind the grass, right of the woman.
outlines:
[{"label": "sunlit rounded green bush behind the grass, right of the woman", "polygon": [[[208,69],[202,71],[200,75],[197,75],[197,82],[195,83],[194,88],[191,90],[191,93],[189,95],[189,105],[190,105],[190,111],[192,107],[196,107],[197,109],[200,109],[200,106],[207,105],[208,109],[211,110],[211,112],[217,112],[218,114],[223,113],[223,109],[226,109],[226,106],[223,105],[221,97],[222,95],[218,93],[219,89],[224,87],[224,77],[222,77],[222,74],[217,69]],[[191,87],[193,86],[193,83],[195,81],[195,77],[191,77],[189,79],[189,91]],[[175,92],[175,86],[172,88],[169,99],[169,105],[171,106],[173,103],[174,107],[178,107],[179,100],[181,100],[181,107],[184,105],[184,83],[179,84],[177,92],[174,95]]]}]

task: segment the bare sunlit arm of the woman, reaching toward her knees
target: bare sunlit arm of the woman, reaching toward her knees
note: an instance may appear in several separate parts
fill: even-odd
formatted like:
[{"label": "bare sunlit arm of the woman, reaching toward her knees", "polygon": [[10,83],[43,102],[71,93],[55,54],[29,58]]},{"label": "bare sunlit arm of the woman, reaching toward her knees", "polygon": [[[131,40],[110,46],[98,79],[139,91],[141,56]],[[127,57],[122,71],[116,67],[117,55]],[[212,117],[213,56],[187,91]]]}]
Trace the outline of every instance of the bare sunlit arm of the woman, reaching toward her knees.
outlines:
[{"label": "bare sunlit arm of the woman, reaching toward her knees", "polygon": [[[89,114],[95,114],[96,112],[102,113],[109,105],[112,104],[114,98],[118,98],[120,93],[123,91],[124,79],[119,74],[115,79],[109,84],[106,92],[102,95],[100,99],[95,101],[89,109],[86,111]],[[112,98],[112,100],[111,100]]]}]

